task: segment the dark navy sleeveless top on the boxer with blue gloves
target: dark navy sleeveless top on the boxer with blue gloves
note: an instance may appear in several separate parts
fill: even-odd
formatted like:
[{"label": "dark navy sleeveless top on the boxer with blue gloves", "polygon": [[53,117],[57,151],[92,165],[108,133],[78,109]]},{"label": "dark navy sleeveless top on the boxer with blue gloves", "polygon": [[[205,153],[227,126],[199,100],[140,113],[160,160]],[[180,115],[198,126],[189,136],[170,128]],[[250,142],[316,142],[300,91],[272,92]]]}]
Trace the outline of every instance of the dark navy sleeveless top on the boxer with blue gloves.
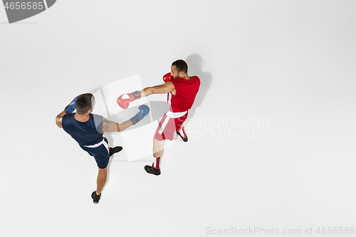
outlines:
[{"label": "dark navy sleeveless top on the boxer with blue gloves", "polygon": [[74,118],[75,113],[66,114],[62,118],[62,127],[80,146],[90,146],[103,141],[103,116],[89,114],[86,122]]}]

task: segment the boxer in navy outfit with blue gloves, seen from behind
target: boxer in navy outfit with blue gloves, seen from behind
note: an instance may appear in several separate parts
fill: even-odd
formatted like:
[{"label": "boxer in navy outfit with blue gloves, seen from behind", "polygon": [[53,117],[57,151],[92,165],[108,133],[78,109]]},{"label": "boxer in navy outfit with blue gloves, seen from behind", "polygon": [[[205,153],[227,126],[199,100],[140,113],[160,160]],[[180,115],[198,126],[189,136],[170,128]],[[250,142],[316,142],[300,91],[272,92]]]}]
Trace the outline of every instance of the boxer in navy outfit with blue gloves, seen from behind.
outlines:
[{"label": "boxer in navy outfit with blue gloves, seen from behind", "polygon": [[[106,120],[101,115],[92,114],[94,106],[94,95],[90,93],[78,95],[57,115],[56,124],[73,137],[83,150],[95,158],[99,172],[97,189],[91,196],[93,202],[98,204],[107,179],[109,159],[112,154],[122,150],[122,147],[108,147],[108,139],[104,137],[104,132],[122,132],[142,120],[150,112],[150,108],[147,105],[140,105],[138,107],[140,112],[137,112],[130,120],[118,124]],[[74,110],[76,112],[73,113]]]}]

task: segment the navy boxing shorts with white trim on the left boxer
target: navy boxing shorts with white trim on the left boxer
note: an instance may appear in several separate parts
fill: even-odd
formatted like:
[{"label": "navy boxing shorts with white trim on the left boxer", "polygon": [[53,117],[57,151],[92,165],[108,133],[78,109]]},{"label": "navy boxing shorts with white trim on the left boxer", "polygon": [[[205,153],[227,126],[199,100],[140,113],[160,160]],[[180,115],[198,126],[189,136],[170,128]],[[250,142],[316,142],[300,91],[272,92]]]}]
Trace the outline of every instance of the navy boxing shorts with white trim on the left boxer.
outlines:
[{"label": "navy boxing shorts with white trim on the left boxer", "polygon": [[91,146],[80,146],[85,152],[88,152],[91,156],[95,158],[95,162],[98,164],[100,169],[105,169],[109,164],[109,147],[108,139],[104,137],[103,142],[94,144]]}]

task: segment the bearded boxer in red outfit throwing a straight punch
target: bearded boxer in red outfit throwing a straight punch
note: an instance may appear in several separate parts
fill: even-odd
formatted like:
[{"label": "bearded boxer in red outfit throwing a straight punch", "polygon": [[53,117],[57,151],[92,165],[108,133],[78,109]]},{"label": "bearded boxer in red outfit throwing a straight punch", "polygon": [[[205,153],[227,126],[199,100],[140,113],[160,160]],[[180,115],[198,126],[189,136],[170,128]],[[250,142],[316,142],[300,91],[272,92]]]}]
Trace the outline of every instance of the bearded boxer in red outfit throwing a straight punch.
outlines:
[{"label": "bearded boxer in red outfit throwing a straight punch", "polygon": [[173,140],[174,132],[182,137],[184,142],[188,137],[184,132],[183,122],[187,119],[188,110],[192,107],[198,93],[200,80],[197,76],[189,77],[188,65],[184,60],[176,60],[172,63],[171,72],[163,76],[164,84],[145,88],[141,91],[120,95],[117,104],[126,109],[129,103],[151,94],[167,94],[167,102],[171,107],[159,122],[155,137],[153,138],[153,157],[152,166],[146,165],[147,173],[159,175],[159,162],[162,155],[162,141],[165,139]]}]

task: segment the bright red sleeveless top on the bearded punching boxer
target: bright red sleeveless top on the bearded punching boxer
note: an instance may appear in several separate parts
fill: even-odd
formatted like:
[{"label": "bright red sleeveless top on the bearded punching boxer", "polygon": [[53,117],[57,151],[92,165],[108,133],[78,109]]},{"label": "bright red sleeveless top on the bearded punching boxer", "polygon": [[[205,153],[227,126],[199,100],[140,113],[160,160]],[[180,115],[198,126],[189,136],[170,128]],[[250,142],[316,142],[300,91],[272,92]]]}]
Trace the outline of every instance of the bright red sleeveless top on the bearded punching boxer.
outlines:
[{"label": "bright red sleeveless top on the bearded punching boxer", "polygon": [[196,75],[190,79],[175,78],[171,80],[176,90],[176,95],[169,93],[171,98],[171,108],[169,110],[171,112],[184,112],[192,107],[199,90],[200,79]]}]

